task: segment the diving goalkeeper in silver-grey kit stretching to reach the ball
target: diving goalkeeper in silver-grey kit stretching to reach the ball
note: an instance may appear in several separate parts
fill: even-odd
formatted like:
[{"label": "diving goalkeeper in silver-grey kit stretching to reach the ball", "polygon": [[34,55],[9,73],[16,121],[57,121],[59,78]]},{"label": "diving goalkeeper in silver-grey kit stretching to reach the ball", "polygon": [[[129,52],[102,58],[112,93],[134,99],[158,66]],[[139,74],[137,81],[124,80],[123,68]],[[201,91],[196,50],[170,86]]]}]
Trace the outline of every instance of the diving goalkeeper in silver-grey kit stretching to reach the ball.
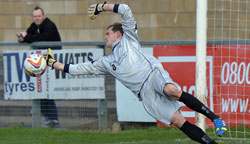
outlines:
[{"label": "diving goalkeeper in silver-grey kit stretching to reach the ball", "polygon": [[142,53],[137,25],[128,5],[97,3],[88,9],[91,20],[105,11],[122,17],[122,23],[108,26],[104,37],[106,47],[112,48],[112,54],[91,62],[62,64],[56,62],[51,50],[48,50],[48,66],[71,75],[111,74],[142,101],[152,117],[167,125],[174,124],[194,141],[216,144],[202,129],[181,115],[178,101],[213,121],[218,136],[227,131],[225,122],[194,96],[181,91],[156,58]]}]

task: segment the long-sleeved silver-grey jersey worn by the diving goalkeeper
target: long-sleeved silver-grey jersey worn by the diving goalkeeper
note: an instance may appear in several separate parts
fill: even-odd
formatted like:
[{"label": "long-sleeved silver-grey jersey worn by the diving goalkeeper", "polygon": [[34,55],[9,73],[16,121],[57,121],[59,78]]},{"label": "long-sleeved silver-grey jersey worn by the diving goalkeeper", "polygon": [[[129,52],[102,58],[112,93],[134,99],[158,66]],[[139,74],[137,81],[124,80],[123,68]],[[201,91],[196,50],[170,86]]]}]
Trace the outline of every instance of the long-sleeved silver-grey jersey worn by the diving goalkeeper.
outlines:
[{"label": "long-sleeved silver-grey jersey worn by the diving goalkeeper", "polygon": [[150,73],[161,67],[161,63],[141,51],[136,22],[126,4],[116,4],[114,12],[122,17],[123,36],[112,45],[112,54],[96,61],[66,65],[66,72],[72,75],[111,74],[122,84],[138,95]]}]

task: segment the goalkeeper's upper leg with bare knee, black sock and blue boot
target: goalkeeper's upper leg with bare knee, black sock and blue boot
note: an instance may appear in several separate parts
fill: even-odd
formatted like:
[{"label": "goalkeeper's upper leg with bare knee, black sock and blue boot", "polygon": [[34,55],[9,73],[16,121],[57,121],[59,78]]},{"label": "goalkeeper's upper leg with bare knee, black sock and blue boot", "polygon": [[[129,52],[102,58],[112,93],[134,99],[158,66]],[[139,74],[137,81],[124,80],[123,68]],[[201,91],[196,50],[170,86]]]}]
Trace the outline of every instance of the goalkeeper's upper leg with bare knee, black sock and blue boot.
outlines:
[{"label": "goalkeeper's upper leg with bare knee, black sock and blue boot", "polygon": [[171,96],[175,100],[183,102],[192,110],[207,116],[211,121],[214,122],[218,136],[221,136],[227,131],[225,122],[191,94],[184,91],[182,92],[175,85],[170,83],[164,86],[163,91],[165,95]]}]

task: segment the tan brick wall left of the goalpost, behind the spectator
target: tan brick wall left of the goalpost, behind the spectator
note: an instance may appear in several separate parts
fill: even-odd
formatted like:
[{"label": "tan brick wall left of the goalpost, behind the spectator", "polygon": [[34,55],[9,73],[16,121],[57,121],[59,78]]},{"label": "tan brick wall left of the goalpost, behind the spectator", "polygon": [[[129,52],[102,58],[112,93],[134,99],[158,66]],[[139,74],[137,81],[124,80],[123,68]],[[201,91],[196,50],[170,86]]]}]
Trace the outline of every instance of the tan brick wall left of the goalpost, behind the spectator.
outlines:
[{"label": "tan brick wall left of the goalpost, behind the spectator", "polygon": [[[32,9],[38,5],[52,19],[63,41],[102,41],[106,27],[120,16],[102,13],[89,20],[87,8],[97,0],[1,0],[0,41],[15,42],[15,34],[31,24]],[[138,23],[140,40],[194,40],[196,0],[108,0],[126,3]]]}]

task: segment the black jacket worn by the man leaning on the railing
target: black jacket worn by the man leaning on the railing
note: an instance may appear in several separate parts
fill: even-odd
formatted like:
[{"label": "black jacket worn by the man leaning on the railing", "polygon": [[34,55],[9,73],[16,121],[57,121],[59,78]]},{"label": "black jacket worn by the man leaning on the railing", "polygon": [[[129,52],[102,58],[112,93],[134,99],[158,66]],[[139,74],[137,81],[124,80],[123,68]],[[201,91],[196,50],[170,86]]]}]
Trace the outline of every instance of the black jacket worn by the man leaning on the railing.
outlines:
[{"label": "black jacket worn by the man leaning on the railing", "polygon": [[[27,35],[24,38],[24,42],[32,43],[38,41],[61,41],[56,25],[49,18],[45,18],[45,20],[39,26],[33,22],[26,32]],[[36,47],[36,49],[47,48],[61,49],[62,47]]]}]

